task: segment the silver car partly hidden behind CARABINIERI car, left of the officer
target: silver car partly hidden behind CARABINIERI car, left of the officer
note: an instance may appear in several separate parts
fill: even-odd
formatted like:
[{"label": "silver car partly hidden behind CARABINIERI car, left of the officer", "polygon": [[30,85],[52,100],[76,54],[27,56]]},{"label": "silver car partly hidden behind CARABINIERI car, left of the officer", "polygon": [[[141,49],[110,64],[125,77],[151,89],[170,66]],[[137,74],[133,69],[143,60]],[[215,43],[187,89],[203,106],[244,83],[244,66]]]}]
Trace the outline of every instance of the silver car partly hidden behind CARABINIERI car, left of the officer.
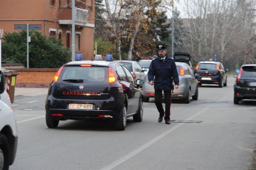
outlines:
[{"label": "silver car partly hidden behind CARABINIERI car, left of the officer", "polygon": [[117,60],[116,62],[122,63],[123,65],[125,65],[129,71],[132,73],[133,77],[135,80],[137,79],[141,79],[144,80],[145,79],[145,69],[142,69],[142,67],[139,65],[138,62],[136,61],[130,61],[130,60]]}]

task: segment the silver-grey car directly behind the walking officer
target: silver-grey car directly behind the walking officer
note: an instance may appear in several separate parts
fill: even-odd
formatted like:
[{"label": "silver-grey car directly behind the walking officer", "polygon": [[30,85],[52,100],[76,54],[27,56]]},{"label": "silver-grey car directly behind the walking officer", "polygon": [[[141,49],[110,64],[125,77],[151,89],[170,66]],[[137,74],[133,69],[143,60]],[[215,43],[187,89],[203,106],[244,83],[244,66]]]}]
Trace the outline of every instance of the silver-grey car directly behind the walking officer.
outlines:
[{"label": "silver-grey car directly behind the walking officer", "polygon": [[[186,63],[175,62],[179,74],[179,88],[171,93],[172,99],[181,99],[184,103],[190,103],[198,99],[198,82],[194,76],[191,67]],[[148,102],[149,98],[155,96],[154,86],[151,86],[146,76],[142,85],[143,101]],[[163,92],[164,96],[164,92]]]}]

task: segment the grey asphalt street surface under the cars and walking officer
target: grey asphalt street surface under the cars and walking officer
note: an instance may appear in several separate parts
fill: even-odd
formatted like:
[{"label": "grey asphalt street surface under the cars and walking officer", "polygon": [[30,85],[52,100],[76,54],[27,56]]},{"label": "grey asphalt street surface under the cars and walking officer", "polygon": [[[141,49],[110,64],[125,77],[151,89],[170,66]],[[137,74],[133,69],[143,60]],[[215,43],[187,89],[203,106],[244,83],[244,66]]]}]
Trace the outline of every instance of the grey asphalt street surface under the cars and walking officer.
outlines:
[{"label": "grey asphalt street surface under the cars and walking officer", "polygon": [[[142,122],[127,120],[124,131],[100,121],[45,123],[47,88],[16,88],[12,109],[18,149],[10,170],[80,169],[249,169],[256,142],[256,101],[233,103],[228,86],[199,87],[197,101],[172,100],[171,120],[157,121],[154,99],[144,102]],[[164,105],[164,103],[163,103]]]}]

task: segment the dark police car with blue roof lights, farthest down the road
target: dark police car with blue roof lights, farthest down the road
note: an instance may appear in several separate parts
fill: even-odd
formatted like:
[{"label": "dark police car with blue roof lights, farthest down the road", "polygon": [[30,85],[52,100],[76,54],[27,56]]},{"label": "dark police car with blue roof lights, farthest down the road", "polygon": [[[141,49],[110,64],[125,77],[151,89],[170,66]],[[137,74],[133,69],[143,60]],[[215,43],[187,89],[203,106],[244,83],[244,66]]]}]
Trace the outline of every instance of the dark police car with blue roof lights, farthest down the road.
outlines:
[{"label": "dark police car with blue roof lights, farthest down the road", "polygon": [[227,71],[220,62],[199,62],[195,68],[195,77],[198,85],[217,84],[227,86]]}]

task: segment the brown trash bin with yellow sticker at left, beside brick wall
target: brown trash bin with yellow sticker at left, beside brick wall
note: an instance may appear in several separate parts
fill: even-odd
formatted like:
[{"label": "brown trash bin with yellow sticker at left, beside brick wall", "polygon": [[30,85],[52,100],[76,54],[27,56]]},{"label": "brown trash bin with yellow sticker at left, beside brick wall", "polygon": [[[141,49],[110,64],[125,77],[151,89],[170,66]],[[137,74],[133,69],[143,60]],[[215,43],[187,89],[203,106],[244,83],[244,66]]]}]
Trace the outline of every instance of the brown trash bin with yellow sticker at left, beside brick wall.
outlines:
[{"label": "brown trash bin with yellow sticker at left, beside brick wall", "polygon": [[2,69],[5,75],[6,91],[10,96],[11,103],[14,101],[14,92],[16,84],[16,76],[19,75],[18,71]]}]

